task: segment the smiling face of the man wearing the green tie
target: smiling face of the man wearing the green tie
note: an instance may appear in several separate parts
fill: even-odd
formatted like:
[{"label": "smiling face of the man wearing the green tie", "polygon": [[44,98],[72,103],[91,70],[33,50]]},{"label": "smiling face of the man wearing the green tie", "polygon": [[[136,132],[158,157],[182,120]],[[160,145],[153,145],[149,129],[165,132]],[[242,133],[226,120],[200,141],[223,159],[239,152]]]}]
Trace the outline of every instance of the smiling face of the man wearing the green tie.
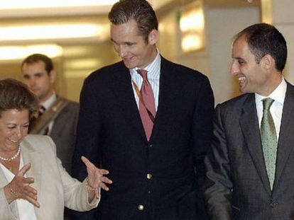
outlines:
[{"label": "smiling face of the man wearing the green tie", "polygon": [[237,39],[232,47],[233,63],[231,74],[239,79],[239,90],[242,93],[258,93],[265,95],[268,74],[256,63],[255,56],[249,50],[244,37]]}]

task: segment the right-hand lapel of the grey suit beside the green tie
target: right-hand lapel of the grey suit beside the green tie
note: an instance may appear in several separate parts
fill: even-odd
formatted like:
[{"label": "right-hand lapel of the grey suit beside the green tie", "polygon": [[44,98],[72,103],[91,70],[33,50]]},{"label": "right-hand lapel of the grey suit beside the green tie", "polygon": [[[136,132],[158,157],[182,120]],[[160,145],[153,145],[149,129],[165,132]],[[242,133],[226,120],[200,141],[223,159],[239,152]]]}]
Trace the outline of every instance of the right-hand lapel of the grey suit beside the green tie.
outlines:
[{"label": "right-hand lapel of the grey suit beside the green tie", "polygon": [[294,116],[294,87],[287,83],[287,91],[285,95],[285,101],[283,105],[283,115],[281,121],[280,136],[278,139],[278,153],[276,162],[276,178],[275,183],[281,178],[283,168],[288,161],[290,151],[293,150],[294,135],[290,135],[289,132],[293,131],[293,116]]}]

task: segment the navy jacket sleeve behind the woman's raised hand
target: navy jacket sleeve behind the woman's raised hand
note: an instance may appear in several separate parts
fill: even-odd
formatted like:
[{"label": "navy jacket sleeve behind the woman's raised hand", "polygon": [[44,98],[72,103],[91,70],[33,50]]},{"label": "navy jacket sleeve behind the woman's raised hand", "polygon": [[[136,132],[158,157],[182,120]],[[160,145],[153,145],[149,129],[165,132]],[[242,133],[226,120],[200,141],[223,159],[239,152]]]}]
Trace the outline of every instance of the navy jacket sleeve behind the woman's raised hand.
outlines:
[{"label": "navy jacket sleeve behind the woman's raised hand", "polygon": [[[86,79],[80,95],[80,114],[77,122],[77,137],[74,156],[72,158],[72,175],[82,181],[87,176],[87,169],[81,161],[86,156],[95,166],[99,166],[99,132],[101,121],[99,106],[94,94],[94,88],[89,79]],[[97,209],[90,212],[75,212],[74,219],[94,219]]]}]

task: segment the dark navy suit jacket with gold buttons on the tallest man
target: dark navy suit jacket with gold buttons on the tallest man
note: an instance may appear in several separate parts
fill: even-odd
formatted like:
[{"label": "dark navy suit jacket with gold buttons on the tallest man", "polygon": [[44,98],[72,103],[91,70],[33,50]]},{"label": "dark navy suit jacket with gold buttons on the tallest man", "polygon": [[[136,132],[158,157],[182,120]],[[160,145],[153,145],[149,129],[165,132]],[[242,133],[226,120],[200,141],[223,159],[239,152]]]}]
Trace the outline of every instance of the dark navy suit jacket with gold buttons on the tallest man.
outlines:
[{"label": "dark navy suit jacket with gold buttons on the tallest man", "polygon": [[[113,180],[109,192],[102,191],[96,213],[84,219],[205,218],[199,191],[214,105],[206,76],[162,58],[150,141],[123,62],[92,73],[85,80],[80,105],[73,174],[85,178],[80,161],[85,155],[109,170]],[[152,177],[147,178],[148,173]],[[140,204],[143,210],[138,210]]]}]

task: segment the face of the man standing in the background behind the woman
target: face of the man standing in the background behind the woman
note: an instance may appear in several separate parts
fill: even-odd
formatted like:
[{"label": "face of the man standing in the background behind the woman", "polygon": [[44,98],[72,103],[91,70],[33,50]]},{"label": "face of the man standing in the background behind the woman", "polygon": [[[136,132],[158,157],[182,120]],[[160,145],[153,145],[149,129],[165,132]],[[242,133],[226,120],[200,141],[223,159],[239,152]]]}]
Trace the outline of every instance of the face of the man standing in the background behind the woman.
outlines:
[{"label": "face of the man standing in the background behind the woman", "polygon": [[41,102],[53,94],[54,71],[48,73],[42,61],[33,64],[23,64],[23,80],[26,85],[35,93]]}]

